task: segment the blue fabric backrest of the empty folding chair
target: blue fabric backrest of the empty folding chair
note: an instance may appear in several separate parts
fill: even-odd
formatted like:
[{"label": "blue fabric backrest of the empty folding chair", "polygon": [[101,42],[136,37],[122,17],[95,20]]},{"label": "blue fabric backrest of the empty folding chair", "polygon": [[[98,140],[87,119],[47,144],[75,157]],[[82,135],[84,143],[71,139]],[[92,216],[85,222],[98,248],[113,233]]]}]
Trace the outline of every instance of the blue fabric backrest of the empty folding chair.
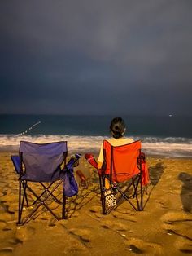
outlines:
[{"label": "blue fabric backrest of the empty folding chair", "polygon": [[60,166],[68,155],[68,143],[66,141],[54,143],[20,141],[19,152],[20,160],[24,164],[24,179],[50,182],[53,179],[59,179]]}]

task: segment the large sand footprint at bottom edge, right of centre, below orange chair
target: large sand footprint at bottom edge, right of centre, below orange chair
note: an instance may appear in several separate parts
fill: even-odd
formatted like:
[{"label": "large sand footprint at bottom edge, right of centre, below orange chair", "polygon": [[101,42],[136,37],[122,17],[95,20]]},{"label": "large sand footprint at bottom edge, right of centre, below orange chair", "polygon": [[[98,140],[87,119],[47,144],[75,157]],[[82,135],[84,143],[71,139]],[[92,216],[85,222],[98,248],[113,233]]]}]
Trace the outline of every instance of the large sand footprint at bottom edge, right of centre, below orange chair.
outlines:
[{"label": "large sand footprint at bottom edge, right of centre, below orange chair", "polygon": [[133,254],[144,255],[164,255],[164,250],[161,245],[142,241],[137,238],[130,238],[128,241],[124,241],[124,245],[127,249],[133,252]]}]

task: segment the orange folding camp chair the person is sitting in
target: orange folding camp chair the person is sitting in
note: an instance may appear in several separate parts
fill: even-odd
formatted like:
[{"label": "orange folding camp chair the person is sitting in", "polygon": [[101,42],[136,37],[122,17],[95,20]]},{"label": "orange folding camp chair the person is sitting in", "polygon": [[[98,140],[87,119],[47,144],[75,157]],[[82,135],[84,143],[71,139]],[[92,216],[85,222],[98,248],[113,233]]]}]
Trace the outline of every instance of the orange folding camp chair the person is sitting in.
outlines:
[{"label": "orange folding camp chair the person is sitting in", "polygon": [[[149,174],[141,142],[114,147],[104,140],[103,157],[102,169],[98,170],[94,155],[85,154],[87,161],[98,170],[103,214],[110,213],[123,199],[134,210],[143,210],[143,187],[149,183]],[[107,181],[110,189],[106,188]]]}]

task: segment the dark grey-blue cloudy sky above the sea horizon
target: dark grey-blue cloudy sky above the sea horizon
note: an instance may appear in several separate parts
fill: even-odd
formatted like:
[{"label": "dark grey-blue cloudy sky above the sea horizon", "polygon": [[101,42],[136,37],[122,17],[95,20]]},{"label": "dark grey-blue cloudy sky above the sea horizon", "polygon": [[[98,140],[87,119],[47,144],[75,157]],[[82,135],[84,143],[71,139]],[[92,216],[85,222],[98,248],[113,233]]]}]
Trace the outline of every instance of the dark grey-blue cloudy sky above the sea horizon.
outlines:
[{"label": "dark grey-blue cloudy sky above the sea horizon", "polygon": [[191,115],[191,0],[1,0],[0,113]]}]

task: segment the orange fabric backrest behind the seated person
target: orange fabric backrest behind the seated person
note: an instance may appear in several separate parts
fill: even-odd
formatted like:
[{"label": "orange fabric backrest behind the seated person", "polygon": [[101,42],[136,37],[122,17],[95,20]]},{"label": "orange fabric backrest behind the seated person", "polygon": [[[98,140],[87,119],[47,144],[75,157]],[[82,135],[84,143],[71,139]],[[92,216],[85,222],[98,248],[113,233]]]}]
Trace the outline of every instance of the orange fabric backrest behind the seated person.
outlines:
[{"label": "orange fabric backrest behind the seated person", "polygon": [[141,153],[141,141],[123,146],[112,146],[107,140],[103,141],[104,173],[109,174],[111,180],[124,182],[141,172],[137,165],[137,157]]}]

